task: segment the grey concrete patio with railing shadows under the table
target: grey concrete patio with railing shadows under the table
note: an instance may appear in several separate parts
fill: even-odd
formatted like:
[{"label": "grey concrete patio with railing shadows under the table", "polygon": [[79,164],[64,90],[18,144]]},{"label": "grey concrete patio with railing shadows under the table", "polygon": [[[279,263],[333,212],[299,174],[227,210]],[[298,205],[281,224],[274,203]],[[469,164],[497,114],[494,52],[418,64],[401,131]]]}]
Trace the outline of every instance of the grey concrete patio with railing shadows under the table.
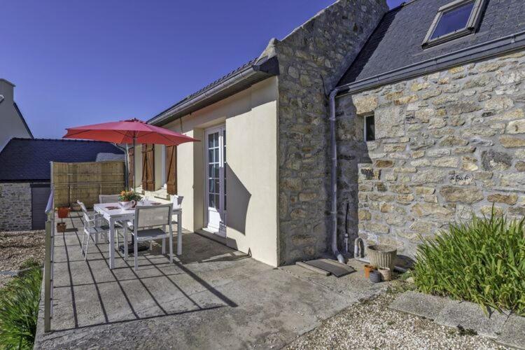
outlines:
[{"label": "grey concrete patio with railing shadows under the table", "polygon": [[172,264],[155,244],[137,272],[120,253],[110,270],[108,245],[90,245],[85,262],[80,218],[67,220],[55,239],[53,331],[43,334],[40,319],[35,349],[279,347],[386,288],[360,271],[274,269],[193,232]]}]

